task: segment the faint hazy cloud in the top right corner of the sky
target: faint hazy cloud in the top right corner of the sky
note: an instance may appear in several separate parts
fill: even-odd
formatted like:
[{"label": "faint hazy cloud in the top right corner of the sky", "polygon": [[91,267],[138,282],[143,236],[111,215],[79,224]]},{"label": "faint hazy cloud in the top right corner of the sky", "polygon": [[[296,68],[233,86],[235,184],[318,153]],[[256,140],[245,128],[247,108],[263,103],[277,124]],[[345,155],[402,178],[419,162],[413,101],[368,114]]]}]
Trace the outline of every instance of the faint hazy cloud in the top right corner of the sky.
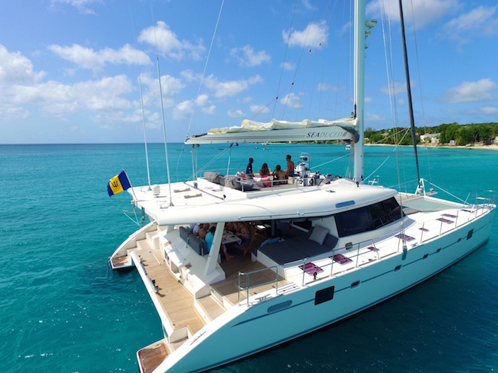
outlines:
[{"label": "faint hazy cloud in the top right corner of the sky", "polygon": [[497,9],[498,6],[479,6],[453,18],[443,26],[443,37],[457,40],[462,45],[475,36],[498,35]]}]

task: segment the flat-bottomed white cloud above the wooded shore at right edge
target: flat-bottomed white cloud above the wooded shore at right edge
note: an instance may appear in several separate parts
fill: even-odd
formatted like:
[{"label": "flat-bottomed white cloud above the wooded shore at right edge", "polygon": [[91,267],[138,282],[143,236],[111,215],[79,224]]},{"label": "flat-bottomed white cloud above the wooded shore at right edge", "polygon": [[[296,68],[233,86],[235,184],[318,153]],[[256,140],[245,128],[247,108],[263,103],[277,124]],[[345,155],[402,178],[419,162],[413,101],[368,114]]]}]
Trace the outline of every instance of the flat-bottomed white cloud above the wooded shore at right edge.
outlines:
[{"label": "flat-bottomed white cloud above the wooded shore at right edge", "polygon": [[452,104],[485,101],[494,99],[492,92],[497,88],[497,84],[489,78],[484,78],[477,82],[462,82],[457,87],[447,90],[442,99]]}]

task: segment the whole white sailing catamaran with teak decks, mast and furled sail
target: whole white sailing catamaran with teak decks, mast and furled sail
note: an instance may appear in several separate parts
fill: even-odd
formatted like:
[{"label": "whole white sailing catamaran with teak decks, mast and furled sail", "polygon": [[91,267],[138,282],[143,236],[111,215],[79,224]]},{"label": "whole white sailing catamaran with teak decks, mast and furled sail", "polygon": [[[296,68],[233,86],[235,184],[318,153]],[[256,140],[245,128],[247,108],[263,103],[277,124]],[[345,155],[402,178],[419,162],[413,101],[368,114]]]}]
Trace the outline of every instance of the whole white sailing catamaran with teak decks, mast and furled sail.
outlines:
[{"label": "whole white sailing catamaran with teak decks, mast and furled sail", "polygon": [[[137,352],[140,372],[200,372],[279,345],[395,296],[486,244],[494,193],[456,203],[363,183],[365,1],[356,0],[352,117],[243,121],[186,144],[350,141],[354,177],[310,173],[304,154],[292,180],[205,173],[191,181],[130,188],[150,222],[112,254],[136,267],[164,338]],[[211,247],[190,229],[216,223]],[[220,262],[240,238],[247,255]],[[245,244],[245,245],[244,245]]]}]

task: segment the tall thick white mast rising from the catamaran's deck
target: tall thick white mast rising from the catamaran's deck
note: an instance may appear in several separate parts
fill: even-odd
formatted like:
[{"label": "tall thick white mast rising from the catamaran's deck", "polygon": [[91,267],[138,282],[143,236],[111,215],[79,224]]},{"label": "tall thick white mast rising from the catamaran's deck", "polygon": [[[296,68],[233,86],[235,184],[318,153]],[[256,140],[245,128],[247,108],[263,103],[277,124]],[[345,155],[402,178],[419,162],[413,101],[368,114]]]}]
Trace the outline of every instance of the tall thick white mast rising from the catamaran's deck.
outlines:
[{"label": "tall thick white mast rising from the catamaran's deck", "polygon": [[354,180],[364,175],[364,102],[365,102],[365,0],[355,1],[354,12],[354,116],[358,118],[359,139],[354,144]]}]

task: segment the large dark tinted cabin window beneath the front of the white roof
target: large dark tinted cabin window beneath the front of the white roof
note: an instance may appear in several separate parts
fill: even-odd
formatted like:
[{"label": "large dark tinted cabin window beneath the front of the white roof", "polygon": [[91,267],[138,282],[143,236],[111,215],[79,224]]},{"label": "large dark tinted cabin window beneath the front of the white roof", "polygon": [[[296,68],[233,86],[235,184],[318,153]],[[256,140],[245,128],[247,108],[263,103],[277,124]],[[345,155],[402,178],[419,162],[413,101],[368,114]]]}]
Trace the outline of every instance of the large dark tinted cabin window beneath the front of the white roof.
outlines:
[{"label": "large dark tinted cabin window beneath the front of the white roof", "polygon": [[401,219],[401,208],[396,198],[334,215],[339,237],[368,232]]}]

